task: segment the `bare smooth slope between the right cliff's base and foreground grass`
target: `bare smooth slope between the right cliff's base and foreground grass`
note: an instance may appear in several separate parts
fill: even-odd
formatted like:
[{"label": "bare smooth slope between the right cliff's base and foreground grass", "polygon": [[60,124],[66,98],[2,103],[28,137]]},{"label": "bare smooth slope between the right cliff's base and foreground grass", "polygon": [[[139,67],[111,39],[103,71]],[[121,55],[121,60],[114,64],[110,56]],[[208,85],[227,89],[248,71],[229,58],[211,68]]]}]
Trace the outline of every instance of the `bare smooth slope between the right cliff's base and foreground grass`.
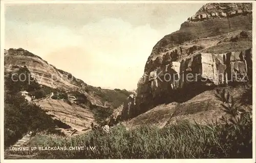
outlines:
[{"label": "bare smooth slope between the right cliff's base and foreground grass", "polygon": [[[225,112],[222,110],[221,106],[223,102],[220,101],[215,94],[216,89],[222,90],[224,88],[230,92],[230,96],[232,96],[237,103],[242,103],[242,101],[245,100],[243,95],[248,88],[247,85],[220,87],[206,90],[183,103],[173,102],[158,105],[130,121],[126,121],[124,124],[128,128],[134,128],[140,125],[152,125],[162,128],[183,120],[188,120],[189,122],[194,122],[195,120],[202,124],[207,123],[207,121],[218,120],[222,115],[225,115]],[[241,108],[242,107],[252,109],[251,104],[246,104],[241,106]]]}]

